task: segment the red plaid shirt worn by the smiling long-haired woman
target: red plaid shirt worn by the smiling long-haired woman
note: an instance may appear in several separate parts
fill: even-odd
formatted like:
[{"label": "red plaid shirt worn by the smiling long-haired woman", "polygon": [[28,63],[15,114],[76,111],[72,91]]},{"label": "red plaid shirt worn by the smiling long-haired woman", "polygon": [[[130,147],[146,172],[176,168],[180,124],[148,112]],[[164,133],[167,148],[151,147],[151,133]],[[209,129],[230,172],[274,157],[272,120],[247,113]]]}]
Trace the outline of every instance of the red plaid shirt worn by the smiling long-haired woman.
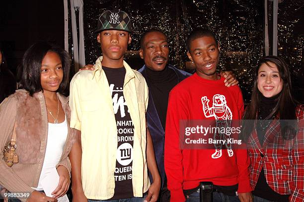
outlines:
[{"label": "red plaid shirt worn by the smiling long-haired woman", "polygon": [[304,105],[296,108],[296,115],[298,133],[293,139],[282,138],[278,120],[268,127],[262,146],[256,130],[251,133],[247,142],[250,184],[254,189],[264,167],[269,187],[278,194],[291,195],[291,202],[304,202]]}]

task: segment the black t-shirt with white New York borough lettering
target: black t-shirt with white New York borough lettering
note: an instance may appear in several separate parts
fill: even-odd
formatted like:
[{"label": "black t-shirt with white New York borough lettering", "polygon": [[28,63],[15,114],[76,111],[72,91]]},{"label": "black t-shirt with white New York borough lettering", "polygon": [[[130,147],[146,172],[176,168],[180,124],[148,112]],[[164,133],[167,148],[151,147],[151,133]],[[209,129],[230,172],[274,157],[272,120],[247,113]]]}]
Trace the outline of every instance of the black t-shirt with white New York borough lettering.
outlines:
[{"label": "black t-shirt with white New York borough lettering", "polygon": [[102,67],[102,69],[110,85],[117,124],[118,144],[116,151],[116,168],[114,172],[115,193],[110,200],[131,198],[133,197],[132,161],[134,126],[128,110],[128,104],[123,94],[126,69],[125,67]]}]

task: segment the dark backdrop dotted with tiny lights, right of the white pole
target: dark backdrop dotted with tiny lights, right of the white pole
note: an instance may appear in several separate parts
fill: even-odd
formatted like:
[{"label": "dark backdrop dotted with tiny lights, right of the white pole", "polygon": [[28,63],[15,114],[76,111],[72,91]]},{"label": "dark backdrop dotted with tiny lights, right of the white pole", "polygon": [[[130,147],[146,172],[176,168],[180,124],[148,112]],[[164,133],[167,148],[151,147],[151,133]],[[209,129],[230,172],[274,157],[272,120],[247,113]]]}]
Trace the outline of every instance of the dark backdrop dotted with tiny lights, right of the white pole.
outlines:
[{"label": "dark backdrop dotted with tiny lights, right of the white pole", "polygon": [[[94,64],[101,55],[93,32],[97,17],[103,11],[113,8],[122,9],[132,17],[134,33],[132,43],[128,47],[131,52],[128,52],[126,60],[134,69],[143,65],[137,51],[145,30],[156,28],[167,35],[169,63],[180,69],[185,69],[185,62],[189,61],[185,41],[190,31],[196,27],[214,31],[221,47],[218,69],[232,70],[237,75],[244,101],[249,103],[254,68],[264,52],[263,0],[84,0],[86,64]],[[301,101],[304,96],[303,13],[303,0],[281,0],[279,3],[278,56],[283,57],[289,64],[295,96]],[[271,29],[271,1],[268,1],[268,19]],[[271,42],[271,30],[269,36]],[[70,45],[72,47],[72,44]]]}]

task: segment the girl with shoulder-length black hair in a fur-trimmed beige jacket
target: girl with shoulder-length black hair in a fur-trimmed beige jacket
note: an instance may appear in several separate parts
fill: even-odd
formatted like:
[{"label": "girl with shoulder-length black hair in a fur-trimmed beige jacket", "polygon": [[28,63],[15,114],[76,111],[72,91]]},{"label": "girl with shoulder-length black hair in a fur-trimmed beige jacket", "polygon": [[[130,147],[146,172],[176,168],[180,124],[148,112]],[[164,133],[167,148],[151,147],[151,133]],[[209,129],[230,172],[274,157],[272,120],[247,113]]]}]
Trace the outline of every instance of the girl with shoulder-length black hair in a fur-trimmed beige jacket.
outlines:
[{"label": "girl with shoulder-length black hair in a fur-trimmed beige jacket", "polygon": [[[55,202],[70,185],[68,155],[75,139],[69,128],[69,99],[63,95],[69,85],[70,57],[61,48],[39,42],[26,51],[20,70],[23,89],[0,104],[0,149],[15,128],[19,162],[8,167],[1,152],[0,184],[21,201]],[[54,169],[59,184],[47,197],[41,182]],[[26,199],[20,193],[31,195]]]}]

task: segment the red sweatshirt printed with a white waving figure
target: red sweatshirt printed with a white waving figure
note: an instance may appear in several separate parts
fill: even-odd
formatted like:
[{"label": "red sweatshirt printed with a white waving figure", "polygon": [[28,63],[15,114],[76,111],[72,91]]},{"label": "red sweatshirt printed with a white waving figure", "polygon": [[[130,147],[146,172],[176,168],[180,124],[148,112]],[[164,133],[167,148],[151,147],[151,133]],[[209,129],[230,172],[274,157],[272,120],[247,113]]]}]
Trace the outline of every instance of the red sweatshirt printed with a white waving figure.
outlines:
[{"label": "red sweatshirt printed with a white waving figure", "polygon": [[[170,92],[165,127],[165,172],[171,202],[184,202],[183,190],[211,181],[214,185],[238,184],[238,193],[252,191],[249,184],[249,159],[246,149],[223,149],[222,156],[212,158],[215,149],[184,149],[179,145],[179,120],[216,119],[239,120],[243,115],[243,99],[238,86],[226,87],[224,79],[207,80],[196,73],[184,79]],[[206,96],[206,97],[205,97]],[[202,97],[209,100],[204,106]],[[221,99],[220,99],[221,98]],[[224,103],[225,112],[215,113],[213,101]],[[206,116],[205,116],[206,114]]]}]

